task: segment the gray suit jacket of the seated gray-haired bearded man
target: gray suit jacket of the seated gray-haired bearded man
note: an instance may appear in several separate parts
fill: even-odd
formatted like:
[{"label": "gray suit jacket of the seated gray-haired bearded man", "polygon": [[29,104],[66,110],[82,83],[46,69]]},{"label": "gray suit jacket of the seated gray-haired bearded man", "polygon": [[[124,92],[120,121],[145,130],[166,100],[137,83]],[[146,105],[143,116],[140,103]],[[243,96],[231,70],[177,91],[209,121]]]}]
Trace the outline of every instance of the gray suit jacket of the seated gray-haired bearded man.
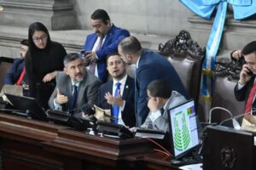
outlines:
[{"label": "gray suit jacket of the seated gray-haired bearded man", "polygon": [[[85,74],[84,80],[80,82],[78,88],[78,99],[75,105],[75,108],[78,110],[74,112],[80,112],[81,110],[79,109],[86,111],[91,106],[96,105],[98,99],[98,91],[102,82],[87,70]],[[57,95],[56,88],[59,88],[61,94],[66,95],[68,98],[68,102],[62,105],[62,111],[68,111],[69,102],[72,100],[72,86],[71,78],[64,71],[60,71],[56,76],[55,90],[48,101],[49,108],[54,109],[54,99]]]}]

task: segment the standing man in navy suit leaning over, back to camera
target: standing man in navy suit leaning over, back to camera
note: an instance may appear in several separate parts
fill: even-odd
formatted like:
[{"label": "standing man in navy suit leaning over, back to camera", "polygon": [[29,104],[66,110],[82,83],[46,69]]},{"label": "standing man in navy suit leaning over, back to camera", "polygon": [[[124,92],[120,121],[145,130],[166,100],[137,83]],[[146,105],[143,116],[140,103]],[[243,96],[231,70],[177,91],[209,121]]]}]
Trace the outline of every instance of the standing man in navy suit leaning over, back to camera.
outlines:
[{"label": "standing man in navy suit leaning over, back to camera", "polygon": [[156,79],[166,81],[171,90],[189,98],[177,72],[171,63],[162,55],[144,50],[136,37],[126,37],[119,42],[119,54],[127,64],[136,65],[135,108],[137,127],[140,127],[148,116],[147,86]]}]

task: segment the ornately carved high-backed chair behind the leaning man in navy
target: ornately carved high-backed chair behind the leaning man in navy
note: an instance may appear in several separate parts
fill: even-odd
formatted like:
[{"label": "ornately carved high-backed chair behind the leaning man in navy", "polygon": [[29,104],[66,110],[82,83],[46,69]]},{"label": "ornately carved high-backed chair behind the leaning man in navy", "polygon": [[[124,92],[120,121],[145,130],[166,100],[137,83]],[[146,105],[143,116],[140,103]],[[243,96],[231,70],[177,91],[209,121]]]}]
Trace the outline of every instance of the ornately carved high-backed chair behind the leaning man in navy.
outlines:
[{"label": "ornately carved high-backed chair behind the leaning man in navy", "polygon": [[178,36],[165,45],[160,43],[160,54],[167,57],[181,78],[191,98],[195,99],[196,109],[201,87],[201,68],[206,48],[200,48],[188,31],[180,31]]}]

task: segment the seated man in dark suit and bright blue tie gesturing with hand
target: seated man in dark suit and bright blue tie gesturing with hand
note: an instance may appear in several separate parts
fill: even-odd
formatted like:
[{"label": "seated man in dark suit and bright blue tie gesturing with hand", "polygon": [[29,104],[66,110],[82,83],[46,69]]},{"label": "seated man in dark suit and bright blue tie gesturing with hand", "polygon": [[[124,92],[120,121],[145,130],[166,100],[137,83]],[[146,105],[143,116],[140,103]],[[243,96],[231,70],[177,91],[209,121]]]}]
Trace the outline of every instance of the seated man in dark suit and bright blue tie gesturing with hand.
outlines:
[{"label": "seated man in dark suit and bright blue tie gesturing with hand", "polygon": [[[111,110],[114,116],[114,107],[118,106],[118,115],[114,116],[115,122],[128,127],[134,127],[136,123],[134,108],[134,79],[125,71],[125,62],[119,54],[111,54],[107,58],[107,69],[113,77],[112,80],[102,84],[98,105],[102,109]],[[118,94],[114,96],[116,84],[120,83]]]}]

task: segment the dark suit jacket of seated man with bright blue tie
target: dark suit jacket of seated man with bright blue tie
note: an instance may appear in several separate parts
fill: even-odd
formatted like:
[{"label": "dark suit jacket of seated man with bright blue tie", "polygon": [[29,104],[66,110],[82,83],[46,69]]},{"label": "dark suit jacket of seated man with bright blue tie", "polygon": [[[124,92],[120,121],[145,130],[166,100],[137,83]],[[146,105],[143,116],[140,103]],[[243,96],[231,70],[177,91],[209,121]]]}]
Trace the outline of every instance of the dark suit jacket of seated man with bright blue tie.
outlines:
[{"label": "dark suit jacket of seated man with bright blue tie", "polygon": [[[102,84],[99,93],[99,102],[98,106],[102,109],[109,109],[112,112],[112,105],[109,105],[107,99],[105,99],[104,95],[109,92],[112,94],[113,89],[113,80],[108,81]],[[122,95],[122,99],[125,100],[125,108],[121,112],[122,119],[125,122],[126,126],[134,127],[136,123],[135,117],[135,108],[134,108],[134,79],[127,76],[125,82],[124,93]]]}]

